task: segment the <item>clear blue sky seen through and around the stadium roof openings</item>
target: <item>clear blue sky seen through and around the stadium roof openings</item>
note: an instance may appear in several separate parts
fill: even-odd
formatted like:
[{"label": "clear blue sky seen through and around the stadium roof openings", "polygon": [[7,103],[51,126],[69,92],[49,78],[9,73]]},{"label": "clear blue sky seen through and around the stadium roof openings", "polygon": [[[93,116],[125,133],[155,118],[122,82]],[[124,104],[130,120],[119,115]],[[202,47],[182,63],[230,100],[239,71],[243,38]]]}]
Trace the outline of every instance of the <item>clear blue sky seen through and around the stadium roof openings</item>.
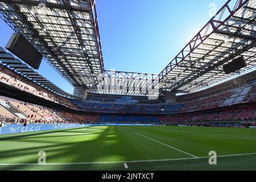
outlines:
[{"label": "clear blue sky seen through and around the stadium roof openings", "polygon": [[[97,0],[105,69],[160,73],[226,0]],[[0,46],[13,30],[0,20]],[[60,88],[73,87],[46,61],[38,71]]]}]

